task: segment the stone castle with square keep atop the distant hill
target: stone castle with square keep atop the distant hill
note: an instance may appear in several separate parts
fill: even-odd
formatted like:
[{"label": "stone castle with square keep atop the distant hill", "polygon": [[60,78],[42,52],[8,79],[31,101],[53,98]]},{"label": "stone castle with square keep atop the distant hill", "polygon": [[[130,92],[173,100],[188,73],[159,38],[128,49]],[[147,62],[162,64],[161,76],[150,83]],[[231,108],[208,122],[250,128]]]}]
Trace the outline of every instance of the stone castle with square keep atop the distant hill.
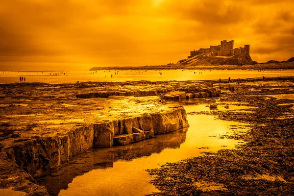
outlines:
[{"label": "stone castle with square keep atop the distant hill", "polygon": [[198,49],[190,52],[191,58],[196,55],[205,55],[205,56],[227,56],[234,54],[246,54],[249,55],[249,45],[245,45],[244,48],[236,48],[234,49],[234,40],[232,41],[221,41],[221,45],[218,46],[210,46],[208,49]]}]

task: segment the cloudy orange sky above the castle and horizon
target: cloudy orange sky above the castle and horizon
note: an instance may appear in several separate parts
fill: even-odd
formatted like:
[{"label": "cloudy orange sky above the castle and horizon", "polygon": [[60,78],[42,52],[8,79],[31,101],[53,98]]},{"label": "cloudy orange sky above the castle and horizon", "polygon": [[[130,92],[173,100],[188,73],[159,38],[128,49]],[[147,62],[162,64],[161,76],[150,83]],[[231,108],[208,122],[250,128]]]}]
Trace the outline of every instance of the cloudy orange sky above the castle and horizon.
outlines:
[{"label": "cloudy orange sky above the castle and horizon", "polygon": [[0,70],[164,65],[221,40],[294,56],[293,0],[0,1]]}]

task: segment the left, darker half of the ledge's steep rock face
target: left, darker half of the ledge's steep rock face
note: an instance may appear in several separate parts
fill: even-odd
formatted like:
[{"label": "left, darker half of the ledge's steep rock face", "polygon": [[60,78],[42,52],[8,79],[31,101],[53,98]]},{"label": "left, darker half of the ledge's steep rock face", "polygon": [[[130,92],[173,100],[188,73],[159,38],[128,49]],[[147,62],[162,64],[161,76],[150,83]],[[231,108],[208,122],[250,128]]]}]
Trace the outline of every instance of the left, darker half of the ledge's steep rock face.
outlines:
[{"label": "left, darker half of the ledge's steep rock face", "polygon": [[5,148],[14,167],[40,175],[67,164],[70,158],[93,147],[94,129],[80,126],[55,136],[35,136]]}]

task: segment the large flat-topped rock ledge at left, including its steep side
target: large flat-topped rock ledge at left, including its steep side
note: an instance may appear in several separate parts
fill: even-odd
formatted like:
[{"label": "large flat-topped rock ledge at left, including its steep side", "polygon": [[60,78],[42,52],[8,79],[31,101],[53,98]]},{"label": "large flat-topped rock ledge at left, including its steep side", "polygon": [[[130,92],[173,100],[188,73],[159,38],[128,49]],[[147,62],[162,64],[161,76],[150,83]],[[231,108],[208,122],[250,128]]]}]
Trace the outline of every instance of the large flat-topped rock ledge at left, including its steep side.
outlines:
[{"label": "large flat-topped rock ledge at left, including its steep side", "polygon": [[[165,105],[159,96],[81,99],[51,85],[0,88],[0,193],[48,196],[33,177],[66,165],[76,154],[189,126],[185,109]],[[171,96],[178,94],[186,96]]]}]

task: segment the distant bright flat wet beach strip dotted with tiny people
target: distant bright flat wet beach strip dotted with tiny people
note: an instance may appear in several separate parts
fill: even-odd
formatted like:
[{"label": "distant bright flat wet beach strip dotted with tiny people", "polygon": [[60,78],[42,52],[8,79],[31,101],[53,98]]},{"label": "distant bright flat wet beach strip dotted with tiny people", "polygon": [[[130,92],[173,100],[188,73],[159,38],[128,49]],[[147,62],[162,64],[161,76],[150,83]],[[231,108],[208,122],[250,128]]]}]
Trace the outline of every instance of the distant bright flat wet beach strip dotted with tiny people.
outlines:
[{"label": "distant bright flat wet beach strip dotted with tiny people", "polygon": [[[196,74],[194,74],[196,71]],[[90,74],[93,73],[94,74]],[[202,74],[199,74],[202,72]],[[37,75],[38,73],[38,75]],[[76,81],[138,81],[138,80],[151,80],[151,81],[164,81],[164,80],[209,80],[209,79],[237,79],[248,77],[274,77],[274,76],[293,76],[294,70],[287,71],[248,71],[248,70],[148,70],[147,72],[137,70],[120,70],[119,74],[114,75],[115,71],[67,71],[64,75],[53,75],[59,72],[0,72],[0,83],[14,83],[19,82],[19,77],[26,77],[26,82],[46,82],[46,83],[75,83]],[[117,73],[117,71],[116,71]],[[163,73],[160,75],[160,73]],[[113,74],[114,77],[110,77]],[[106,77],[105,77],[106,76]]]}]

